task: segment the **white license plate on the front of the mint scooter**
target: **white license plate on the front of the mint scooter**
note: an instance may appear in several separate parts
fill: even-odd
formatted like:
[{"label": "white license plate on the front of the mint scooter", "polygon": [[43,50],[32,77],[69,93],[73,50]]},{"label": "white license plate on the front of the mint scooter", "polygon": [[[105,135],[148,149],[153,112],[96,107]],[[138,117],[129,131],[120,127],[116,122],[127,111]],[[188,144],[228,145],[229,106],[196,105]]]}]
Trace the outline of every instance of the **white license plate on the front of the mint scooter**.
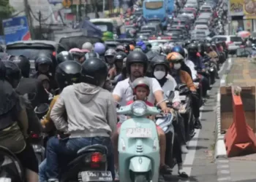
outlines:
[{"label": "white license plate on the front of the mint scooter", "polygon": [[128,138],[151,138],[152,129],[151,128],[127,128]]}]

